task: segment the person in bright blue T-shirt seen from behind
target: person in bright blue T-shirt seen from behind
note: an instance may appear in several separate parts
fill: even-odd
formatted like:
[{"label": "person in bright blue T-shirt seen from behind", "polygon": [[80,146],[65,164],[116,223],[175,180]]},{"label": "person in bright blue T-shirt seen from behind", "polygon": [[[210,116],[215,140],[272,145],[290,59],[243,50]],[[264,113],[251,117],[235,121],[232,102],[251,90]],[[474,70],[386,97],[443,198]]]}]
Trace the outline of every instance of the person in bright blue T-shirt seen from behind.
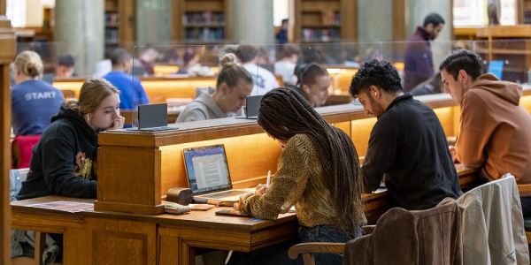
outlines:
[{"label": "person in bright blue T-shirt seen from behind", "polygon": [[119,108],[135,110],[139,104],[150,103],[140,80],[131,75],[133,60],[127,50],[114,49],[109,57],[111,57],[112,72],[104,75],[104,79],[119,89]]}]

